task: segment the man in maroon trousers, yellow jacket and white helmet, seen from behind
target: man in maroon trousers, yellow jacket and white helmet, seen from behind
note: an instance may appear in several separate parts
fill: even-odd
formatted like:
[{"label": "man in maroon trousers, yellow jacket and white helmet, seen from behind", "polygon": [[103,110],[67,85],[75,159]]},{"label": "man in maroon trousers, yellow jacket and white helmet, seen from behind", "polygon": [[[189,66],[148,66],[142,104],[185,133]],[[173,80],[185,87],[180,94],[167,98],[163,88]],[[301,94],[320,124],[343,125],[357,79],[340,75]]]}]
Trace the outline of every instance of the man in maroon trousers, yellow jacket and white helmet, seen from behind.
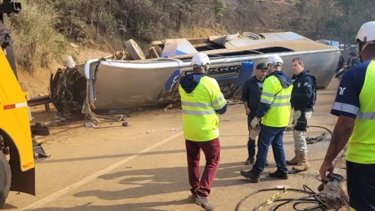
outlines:
[{"label": "man in maroon trousers, yellow jacket and white helmet, seen from behind", "polygon": [[[197,53],[192,58],[193,72],[181,77],[183,135],[188,157],[189,183],[192,199],[206,210],[213,210],[207,201],[220,160],[219,118],[226,111],[226,100],[214,78],[207,76],[210,58]],[[202,149],[206,166],[199,179]]]}]

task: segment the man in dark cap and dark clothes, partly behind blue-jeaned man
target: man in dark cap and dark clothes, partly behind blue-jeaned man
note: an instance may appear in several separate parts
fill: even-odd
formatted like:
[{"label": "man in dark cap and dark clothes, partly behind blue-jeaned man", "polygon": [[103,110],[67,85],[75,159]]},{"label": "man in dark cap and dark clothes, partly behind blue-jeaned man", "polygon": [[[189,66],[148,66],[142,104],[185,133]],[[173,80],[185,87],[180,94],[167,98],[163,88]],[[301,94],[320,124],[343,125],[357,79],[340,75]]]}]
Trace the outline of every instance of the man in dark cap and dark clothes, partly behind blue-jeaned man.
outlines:
[{"label": "man in dark cap and dark clothes, partly behind blue-jeaned man", "polygon": [[[259,109],[263,81],[267,74],[267,70],[268,68],[264,63],[258,64],[255,70],[255,75],[248,79],[243,86],[242,101],[247,115],[247,129],[249,130],[249,133],[252,130],[251,122]],[[255,139],[253,140],[250,137],[247,141],[247,152],[248,157],[245,161],[245,165],[252,165],[254,164],[255,157]],[[266,161],[266,165],[268,165],[268,161]]]}]

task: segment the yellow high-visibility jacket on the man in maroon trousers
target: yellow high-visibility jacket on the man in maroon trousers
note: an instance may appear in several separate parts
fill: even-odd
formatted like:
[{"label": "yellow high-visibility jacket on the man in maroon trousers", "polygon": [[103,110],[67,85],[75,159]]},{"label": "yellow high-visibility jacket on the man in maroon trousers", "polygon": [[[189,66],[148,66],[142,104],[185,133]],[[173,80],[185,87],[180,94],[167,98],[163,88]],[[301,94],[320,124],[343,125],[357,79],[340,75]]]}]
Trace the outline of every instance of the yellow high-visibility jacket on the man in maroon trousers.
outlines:
[{"label": "yellow high-visibility jacket on the man in maroon trousers", "polygon": [[219,137],[219,118],[215,110],[226,105],[226,100],[214,78],[203,76],[192,93],[181,86],[183,135],[186,140],[210,141]]}]

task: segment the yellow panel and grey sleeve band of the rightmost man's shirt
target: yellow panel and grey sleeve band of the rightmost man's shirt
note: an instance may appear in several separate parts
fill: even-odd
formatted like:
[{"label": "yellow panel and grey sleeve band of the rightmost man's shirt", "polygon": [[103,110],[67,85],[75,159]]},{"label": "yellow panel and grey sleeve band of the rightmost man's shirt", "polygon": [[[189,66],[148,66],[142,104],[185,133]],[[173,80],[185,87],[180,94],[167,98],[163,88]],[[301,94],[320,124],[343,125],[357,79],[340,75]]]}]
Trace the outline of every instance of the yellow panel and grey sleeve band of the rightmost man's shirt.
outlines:
[{"label": "yellow panel and grey sleeve band of the rightmost man's shirt", "polygon": [[335,103],[335,109],[357,115],[353,133],[348,141],[346,160],[356,163],[375,163],[375,61],[367,67],[365,81],[359,95],[360,108]]}]

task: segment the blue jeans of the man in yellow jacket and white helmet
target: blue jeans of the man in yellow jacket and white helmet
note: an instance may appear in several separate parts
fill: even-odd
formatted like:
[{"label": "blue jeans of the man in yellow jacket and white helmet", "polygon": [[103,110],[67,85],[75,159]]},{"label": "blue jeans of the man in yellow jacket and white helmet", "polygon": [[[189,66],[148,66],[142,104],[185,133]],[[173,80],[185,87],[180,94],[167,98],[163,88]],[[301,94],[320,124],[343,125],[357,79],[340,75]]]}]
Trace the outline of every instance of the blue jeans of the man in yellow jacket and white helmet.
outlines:
[{"label": "blue jeans of the man in yellow jacket and white helmet", "polygon": [[253,172],[258,175],[262,174],[265,166],[265,161],[267,159],[268,147],[269,145],[272,145],[272,150],[274,152],[275,162],[277,165],[277,171],[280,173],[288,174],[283,146],[283,135],[285,127],[273,128],[261,123],[260,128],[261,131],[258,138],[257,160],[253,165]]}]

